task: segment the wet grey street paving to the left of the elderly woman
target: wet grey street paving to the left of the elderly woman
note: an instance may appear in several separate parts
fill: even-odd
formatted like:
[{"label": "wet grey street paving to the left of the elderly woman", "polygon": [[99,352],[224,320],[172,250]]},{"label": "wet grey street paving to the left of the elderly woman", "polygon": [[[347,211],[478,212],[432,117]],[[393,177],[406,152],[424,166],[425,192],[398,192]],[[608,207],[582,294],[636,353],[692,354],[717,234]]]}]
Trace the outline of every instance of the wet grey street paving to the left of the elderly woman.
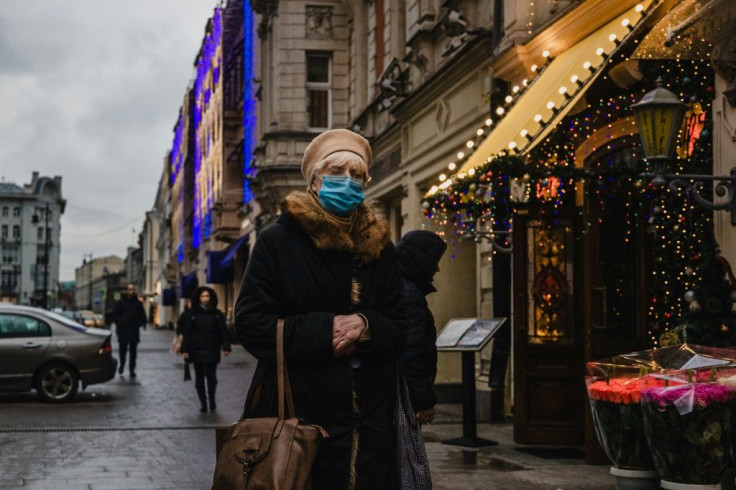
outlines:
[{"label": "wet grey street paving to the left of the elderly woman", "polygon": [[255,361],[235,346],[218,370],[217,411],[200,413],[194,381],[168,352],[173,332],[141,334],[135,380],[126,370],[63,405],[0,394],[0,488],[210,487],[214,427],[240,415]]}]

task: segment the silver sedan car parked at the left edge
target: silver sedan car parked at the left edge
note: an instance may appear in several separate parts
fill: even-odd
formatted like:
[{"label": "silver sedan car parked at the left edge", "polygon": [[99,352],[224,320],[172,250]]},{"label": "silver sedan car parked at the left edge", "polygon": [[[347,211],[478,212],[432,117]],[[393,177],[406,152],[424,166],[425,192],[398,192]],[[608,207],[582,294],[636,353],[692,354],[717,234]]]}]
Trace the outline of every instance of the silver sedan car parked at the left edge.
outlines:
[{"label": "silver sedan car parked at the left edge", "polygon": [[84,389],[115,377],[111,335],[40,308],[0,303],[0,391],[73,399],[80,381]]}]

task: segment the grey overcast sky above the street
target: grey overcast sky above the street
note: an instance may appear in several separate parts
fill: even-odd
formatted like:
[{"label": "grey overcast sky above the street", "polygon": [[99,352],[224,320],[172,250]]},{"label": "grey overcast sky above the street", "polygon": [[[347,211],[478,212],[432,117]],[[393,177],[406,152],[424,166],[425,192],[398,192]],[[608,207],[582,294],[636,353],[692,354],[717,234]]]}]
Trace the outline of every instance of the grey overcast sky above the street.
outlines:
[{"label": "grey overcast sky above the street", "polygon": [[136,243],[217,3],[0,0],[0,178],[62,176],[60,280]]}]

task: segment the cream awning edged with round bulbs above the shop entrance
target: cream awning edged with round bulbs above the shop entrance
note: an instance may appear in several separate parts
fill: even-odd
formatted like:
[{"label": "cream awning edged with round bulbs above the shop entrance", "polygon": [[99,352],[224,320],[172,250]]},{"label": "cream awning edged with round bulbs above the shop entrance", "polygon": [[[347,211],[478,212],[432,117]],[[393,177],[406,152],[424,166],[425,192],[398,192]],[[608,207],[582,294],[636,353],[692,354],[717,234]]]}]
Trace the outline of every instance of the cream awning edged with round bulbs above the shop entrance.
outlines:
[{"label": "cream awning edged with round bulbs above the shop entrance", "polygon": [[550,61],[503,119],[495,123],[490,134],[463,163],[458,175],[502,152],[526,153],[543,141],[580,102],[652,3],[641,2]]}]

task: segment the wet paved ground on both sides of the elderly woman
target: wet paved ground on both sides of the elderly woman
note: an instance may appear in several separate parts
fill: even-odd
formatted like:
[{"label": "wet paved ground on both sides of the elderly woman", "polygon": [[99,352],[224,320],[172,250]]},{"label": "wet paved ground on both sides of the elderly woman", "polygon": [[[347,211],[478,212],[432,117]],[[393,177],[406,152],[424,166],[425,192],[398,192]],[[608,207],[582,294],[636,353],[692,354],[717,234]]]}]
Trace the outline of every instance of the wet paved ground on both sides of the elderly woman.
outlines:
[{"label": "wet paved ground on both sides of the elderly woman", "polygon": [[[131,380],[126,370],[80,391],[72,403],[46,404],[35,392],[0,393],[0,488],[210,488],[214,428],[239,417],[255,360],[234,346],[218,369],[217,411],[200,413],[194,382],[183,380],[183,361],[169,353],[173,335],[141,331],[138,377]],[[461,435],[459,411],[459,405],[438,406],[437,421],[423,430],[437,490],[614,488],[608,467],[584,464],[579,449],[523,452],[528,448],[513,442],[512,424],[478,425],[478,435],[498,446],[442,444]]]}]

